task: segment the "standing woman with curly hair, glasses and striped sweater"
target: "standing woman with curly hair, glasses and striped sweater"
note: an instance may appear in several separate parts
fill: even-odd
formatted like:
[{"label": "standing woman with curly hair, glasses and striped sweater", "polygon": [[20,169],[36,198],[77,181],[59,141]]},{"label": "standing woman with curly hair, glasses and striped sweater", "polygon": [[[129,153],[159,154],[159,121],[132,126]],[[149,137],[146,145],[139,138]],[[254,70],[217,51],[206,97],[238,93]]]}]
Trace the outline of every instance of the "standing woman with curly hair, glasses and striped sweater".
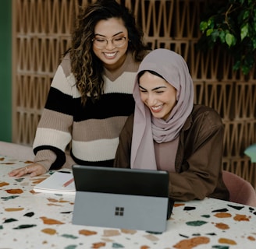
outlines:
[{"label": "standing woman with curly hair, glasses and striped sweater", "polygon": [[87,5],[52,80],[34,139],[34,163],[9,175],[34,177],[74,163],[112,167],[147,53],[129,9],[114,0]]}]

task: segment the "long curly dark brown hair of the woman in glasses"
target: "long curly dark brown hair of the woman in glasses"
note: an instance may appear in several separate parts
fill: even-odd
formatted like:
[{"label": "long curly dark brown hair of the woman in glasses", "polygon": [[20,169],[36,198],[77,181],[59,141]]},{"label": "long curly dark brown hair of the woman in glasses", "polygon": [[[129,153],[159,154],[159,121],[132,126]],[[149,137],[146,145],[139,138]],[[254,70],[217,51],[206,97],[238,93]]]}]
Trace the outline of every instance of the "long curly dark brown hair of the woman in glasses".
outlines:
[{"label": "long curly dark brown hair of the woman in glasses", "polygon": [[81,93],[81,101],[87,98],[98,100],[104,89],[103,64],[92,50],[94,27],[102,19],[123,19],[130,39],[128,51],[136,61],[141,61],[149,50],[143,42],[143,32],[137,26],[135,18],[126,6],[115,0],[98,0],[86,9],[81,9],[72,33],[72,45],[69,48],[71,71],[76,78],[76,87]]}]

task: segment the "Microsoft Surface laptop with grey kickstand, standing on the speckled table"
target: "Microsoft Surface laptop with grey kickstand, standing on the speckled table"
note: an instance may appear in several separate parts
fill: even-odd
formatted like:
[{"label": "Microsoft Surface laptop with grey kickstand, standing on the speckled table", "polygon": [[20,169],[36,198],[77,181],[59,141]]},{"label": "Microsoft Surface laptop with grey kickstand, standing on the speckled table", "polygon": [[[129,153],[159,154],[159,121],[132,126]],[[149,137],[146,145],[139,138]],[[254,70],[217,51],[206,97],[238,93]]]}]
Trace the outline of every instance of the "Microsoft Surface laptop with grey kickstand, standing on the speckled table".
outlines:
[{"label": "Microsoft Surface laptop with grey kickstand, standing on the speckled table", "polygon": [[73,224],[166,230],[173,206],[168,172],[73,165],[73,176]]}]

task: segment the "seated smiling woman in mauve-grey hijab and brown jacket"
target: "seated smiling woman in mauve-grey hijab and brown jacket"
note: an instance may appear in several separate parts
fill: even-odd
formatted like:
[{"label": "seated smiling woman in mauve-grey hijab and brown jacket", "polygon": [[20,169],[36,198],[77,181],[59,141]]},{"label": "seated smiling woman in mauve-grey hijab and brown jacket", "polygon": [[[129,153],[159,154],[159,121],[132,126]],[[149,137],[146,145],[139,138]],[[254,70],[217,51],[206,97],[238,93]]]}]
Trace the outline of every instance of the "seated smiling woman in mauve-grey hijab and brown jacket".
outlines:
[{"label": "seated smiling woman in mauve-grey hijab and brown jacket", "polygon": [[167,49],[151,51],[138,69],[133,97],[135,111],[120,134],[115,167],[169,171],[174,200],[228,200],[222,119],[194,104],[186,61]]}]

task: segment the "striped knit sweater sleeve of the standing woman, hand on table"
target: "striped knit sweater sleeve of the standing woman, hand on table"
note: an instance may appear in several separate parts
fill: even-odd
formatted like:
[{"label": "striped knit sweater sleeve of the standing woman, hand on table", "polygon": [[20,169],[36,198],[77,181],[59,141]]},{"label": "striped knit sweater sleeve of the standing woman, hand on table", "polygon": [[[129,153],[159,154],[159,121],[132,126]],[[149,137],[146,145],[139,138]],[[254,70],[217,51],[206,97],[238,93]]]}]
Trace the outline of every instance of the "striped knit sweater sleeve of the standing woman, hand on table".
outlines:
[{"label": "striped knit sweater sleeve of the standing woman, hand on table", "polygon": [[73,125],[73,99],[78,96],[74,79],[73,83],[70,79],[73,79],[72,75],[66,75],[62,62],[52,80],[37,126],[33,145],[36,154],[34,162],[41,163],[46,169],[58,169],[66,161],[65,150],[71,141]]}]

